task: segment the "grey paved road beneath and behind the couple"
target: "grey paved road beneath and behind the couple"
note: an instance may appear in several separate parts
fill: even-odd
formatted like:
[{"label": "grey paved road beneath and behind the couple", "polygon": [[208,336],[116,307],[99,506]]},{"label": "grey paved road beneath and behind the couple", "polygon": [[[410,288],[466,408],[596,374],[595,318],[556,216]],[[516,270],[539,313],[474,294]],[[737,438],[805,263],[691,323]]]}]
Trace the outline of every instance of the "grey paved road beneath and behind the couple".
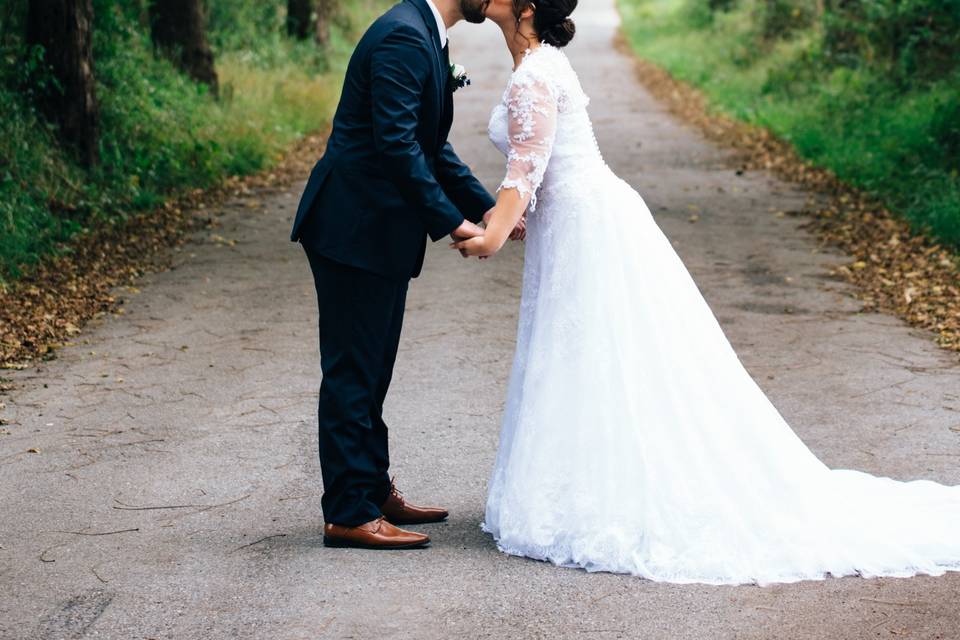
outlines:
[{"label": "grey paved road beneath and behind the couple", "polygon": [[[678,124],[614,52],[611,0],[570,55],[600,146],[647,198],[745,365],[833,467],[960,483],[960,366],[859,314],[800,221],[804,194]],[[495,184],[486,115],[508,72],[489,25],[451,34],[474,85],[458,148]],[[12,375],[0,435],[0,637],[956,638],[960,575],[707,587],[499,554],[481,534],[522,247],[431,250],[388,401],[406,494],[448,505],[426,551],[320,542],[314,299],[286,241],[299,187],[224,208],[88,344]],[[689,222],[691,215],[699,221]],[[25,452],[38,448],[39,453]],[[146,508],[149,507],[149,508]],[[602,526],[602,523],[598,523]],[[135,529],[134,531],[125,531]],[[117,532],[117,533],[111,533]],[[84,535],[86,534],[86,535]],[[103,534],[103,535],[95,535]]]}]

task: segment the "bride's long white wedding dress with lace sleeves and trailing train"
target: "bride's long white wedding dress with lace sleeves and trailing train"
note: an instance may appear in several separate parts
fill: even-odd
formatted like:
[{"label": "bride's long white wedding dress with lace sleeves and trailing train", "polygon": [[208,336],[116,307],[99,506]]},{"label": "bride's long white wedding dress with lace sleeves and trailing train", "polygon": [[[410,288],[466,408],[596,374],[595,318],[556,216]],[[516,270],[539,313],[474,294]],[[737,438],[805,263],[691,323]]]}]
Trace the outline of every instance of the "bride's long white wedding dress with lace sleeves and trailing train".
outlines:
[{"label": "bride's long white wedding dress with lace sleeves and trailing train", "polygon": [[960,570],[960,486],[814,456],[604,163],[587,102],[543,45],[490,122],[501,188],[534,198],[483,530],[509,554],[678,583]]}]

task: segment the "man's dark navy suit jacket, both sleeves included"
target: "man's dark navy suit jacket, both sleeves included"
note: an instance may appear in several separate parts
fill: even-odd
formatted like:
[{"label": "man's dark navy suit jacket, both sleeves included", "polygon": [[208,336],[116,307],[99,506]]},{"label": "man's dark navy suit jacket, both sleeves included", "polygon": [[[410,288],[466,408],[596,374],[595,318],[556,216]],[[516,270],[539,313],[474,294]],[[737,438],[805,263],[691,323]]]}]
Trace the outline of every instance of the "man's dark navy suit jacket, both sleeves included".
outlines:
[{"label": "man's dark navy suit jacket, both sleeves included", "polygon": [[447,142],[453,88],[426,0],[405,0],[361,38],[326,152],[290,239],[395,280],[419,275],[427,236],[449,235],[494,205]]}]

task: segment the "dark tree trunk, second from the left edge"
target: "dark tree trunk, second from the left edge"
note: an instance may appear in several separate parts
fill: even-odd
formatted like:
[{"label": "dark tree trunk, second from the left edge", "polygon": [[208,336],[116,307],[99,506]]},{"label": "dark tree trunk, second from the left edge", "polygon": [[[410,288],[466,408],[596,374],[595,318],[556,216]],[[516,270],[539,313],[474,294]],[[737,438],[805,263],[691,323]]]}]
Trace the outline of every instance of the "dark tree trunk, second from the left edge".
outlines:
[{"label": "dark tree trunk, second from the left edge", "polygon": [[200,0],[152,0],[150,35],[157,49],[217,95],[217,72]]}]

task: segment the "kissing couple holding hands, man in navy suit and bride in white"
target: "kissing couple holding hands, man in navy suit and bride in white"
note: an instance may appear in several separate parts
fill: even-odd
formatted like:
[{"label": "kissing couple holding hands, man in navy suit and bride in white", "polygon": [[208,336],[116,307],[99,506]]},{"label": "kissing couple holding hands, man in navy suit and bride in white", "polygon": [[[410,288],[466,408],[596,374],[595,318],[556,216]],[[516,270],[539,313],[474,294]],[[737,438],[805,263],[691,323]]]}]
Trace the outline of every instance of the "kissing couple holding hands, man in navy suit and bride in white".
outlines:
[{"label": "kissing couple holding hands, man in navy suit and bride in white", "polygon": [[[404,0],[357,45],[291,239],[313,272],[324,544],[409,549],[383,404],[427,239],[525,240],[516,352],[480,526],[509,554],[650,580],[770,584],[960,569],[960,486],[827,468],[751,378],[643,198],[606,165],[563,49],[577,0]],[[491,195],[447,141],[447,30],[514,67]]]}]

